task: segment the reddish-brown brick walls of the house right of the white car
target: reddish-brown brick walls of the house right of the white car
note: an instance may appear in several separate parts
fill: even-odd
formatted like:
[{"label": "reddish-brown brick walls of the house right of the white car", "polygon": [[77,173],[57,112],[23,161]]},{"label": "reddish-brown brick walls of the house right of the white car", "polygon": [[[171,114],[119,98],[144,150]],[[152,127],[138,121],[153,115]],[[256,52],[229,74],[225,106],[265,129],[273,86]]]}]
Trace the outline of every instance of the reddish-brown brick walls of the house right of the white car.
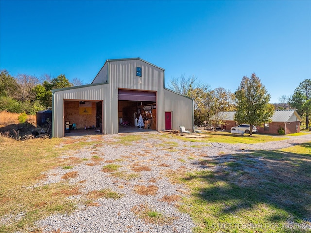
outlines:
[{"label": "reddish-brown brick walls of the house right of the white car", "polygon": [[[260,127],[256,126],[258,133],[268,133],[268,134],[278,134],[278,129],[280,127],[283,127],[286,129],[285,134],[291,134],[291,133],[299,133],[300,132],[300,127],[299,127],[300,121],[297,122],[288,122],[285,123],[283,122],[272,122],[269,123],[269,127]],[[296,128],[296,125],[298,126]]]}]

